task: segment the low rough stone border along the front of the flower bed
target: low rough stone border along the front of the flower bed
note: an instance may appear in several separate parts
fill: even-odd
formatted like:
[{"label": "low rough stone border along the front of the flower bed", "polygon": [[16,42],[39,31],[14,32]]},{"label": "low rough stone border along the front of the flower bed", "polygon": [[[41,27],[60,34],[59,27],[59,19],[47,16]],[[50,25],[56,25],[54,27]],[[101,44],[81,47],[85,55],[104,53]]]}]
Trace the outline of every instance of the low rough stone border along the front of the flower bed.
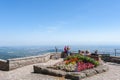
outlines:
[{"label": "low rough stone border along the front of the flower bed", "polygon": [[96,75],[102,72],[106,72],[108,69],[109,69],[108,66],[100,65],[96,68],[87,69],[81,72],[65,72],[63,70],[55,70],[55,69],[47,68],[45,66],[39,66],[39,65],[34,66],[35,73],[42,73],[42,74],[60,76],[60,77],[64,76],[65,78],[70,79],[70,80],[81,80],[89,76],[93,76],[93,75]]}]

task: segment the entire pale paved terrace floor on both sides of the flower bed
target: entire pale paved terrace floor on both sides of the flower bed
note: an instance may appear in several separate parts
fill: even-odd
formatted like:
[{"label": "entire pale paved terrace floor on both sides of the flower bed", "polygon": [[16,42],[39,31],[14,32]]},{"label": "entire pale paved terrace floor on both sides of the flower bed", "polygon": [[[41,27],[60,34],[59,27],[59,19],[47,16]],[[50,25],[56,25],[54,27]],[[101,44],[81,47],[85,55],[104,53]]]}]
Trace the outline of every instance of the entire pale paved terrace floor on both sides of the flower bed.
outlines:
[{"label": "entire pale paved terrace floor on both sides of the flower bed", "polygon": [[[51,62],[53,63],[55,61],[52,60]],[[50,62],[48,63],[50,64]],[[109,71],[82,80],[120,80],[120,64],[106,63],[106,65],[109,66],[110,68]],[[12,71],[0,71],[0,80],[64,80],[64,79],[49,75],[35,74],[33,73],[33,65],[29,65]]]}]

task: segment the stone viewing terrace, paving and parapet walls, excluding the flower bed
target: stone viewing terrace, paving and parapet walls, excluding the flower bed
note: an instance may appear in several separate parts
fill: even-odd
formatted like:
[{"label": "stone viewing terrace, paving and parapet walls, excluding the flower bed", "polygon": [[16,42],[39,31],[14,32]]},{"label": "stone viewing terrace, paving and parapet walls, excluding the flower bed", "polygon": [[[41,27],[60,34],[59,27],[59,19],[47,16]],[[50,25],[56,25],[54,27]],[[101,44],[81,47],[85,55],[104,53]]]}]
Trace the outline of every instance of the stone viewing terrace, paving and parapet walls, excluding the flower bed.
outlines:
[{"label": "stone viewing terrace, paving and parapet walls, excluding the flower bed", "polygon": [[[9,60],[0,60],[0,80],[64,80],[64,77],[60,76],[51,76],[44,74],[36,74],[34,73],[33,66],[40,65],[53,65],[62,61],[60,58],[60,53],[47,53],[45,55],[40,56],[31,56],[24,58],[16,58]],[[59,58],[59,59],[58,59]],[[101,55],[101,58],[105,60],[105,66],[109,67],[109,70],[102,74],[97,74],[92,77],[86,77],[82,80],[119,80],[120,79],[120,57],[109,56],[109,55]],[[109,62],[108,62],[109,61]],[[8,65],[6,70],[3,68],[4,65]],[[5,66],[4,66],[5,67]],[[2,71],[5,70],[5,71]],[[114,73],[114,74],[113,74]],[[104,77],[104,78],[103,78]],[[67,79],[66,79],[67,80]]]}]

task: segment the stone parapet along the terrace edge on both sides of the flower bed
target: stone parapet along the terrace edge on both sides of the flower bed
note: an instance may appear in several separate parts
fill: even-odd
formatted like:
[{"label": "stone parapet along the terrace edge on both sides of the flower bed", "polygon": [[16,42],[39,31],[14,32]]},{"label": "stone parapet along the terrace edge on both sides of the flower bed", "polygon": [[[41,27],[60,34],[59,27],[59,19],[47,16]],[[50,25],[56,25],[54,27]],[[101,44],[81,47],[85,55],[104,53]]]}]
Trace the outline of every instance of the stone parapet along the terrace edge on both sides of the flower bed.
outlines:
[{"label": "stone parapet along the terrace edge on both sides of the flower bed", "polygon": [[[0,59],[0,70],[5,70],[5,71],[13,70],[26,65],[47,62],[50,59],[56,59],[60,57],[61,57],[60,53],[58,54],[47,53],[44,55],[24,57],[24,58],[14,58],[14,59],[8,59],[8,60]],[[104,61],[120,63],[120,57],[102,55],[102,59]]]}]

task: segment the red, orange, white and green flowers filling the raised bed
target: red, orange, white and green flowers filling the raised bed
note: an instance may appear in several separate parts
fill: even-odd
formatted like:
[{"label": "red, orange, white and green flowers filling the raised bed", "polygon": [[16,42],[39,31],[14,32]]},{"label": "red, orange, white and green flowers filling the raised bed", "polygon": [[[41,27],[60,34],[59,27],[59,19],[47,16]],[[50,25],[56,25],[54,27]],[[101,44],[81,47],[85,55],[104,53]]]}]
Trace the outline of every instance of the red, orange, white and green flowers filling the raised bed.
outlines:
[{"label": "red, orange, white and green flowers filling the raised bed", "polygon": [[99,62],[82,55],[68,56],[62,63],[56,64],[57,69],[65,71],[82,71],[99,65]]}]

